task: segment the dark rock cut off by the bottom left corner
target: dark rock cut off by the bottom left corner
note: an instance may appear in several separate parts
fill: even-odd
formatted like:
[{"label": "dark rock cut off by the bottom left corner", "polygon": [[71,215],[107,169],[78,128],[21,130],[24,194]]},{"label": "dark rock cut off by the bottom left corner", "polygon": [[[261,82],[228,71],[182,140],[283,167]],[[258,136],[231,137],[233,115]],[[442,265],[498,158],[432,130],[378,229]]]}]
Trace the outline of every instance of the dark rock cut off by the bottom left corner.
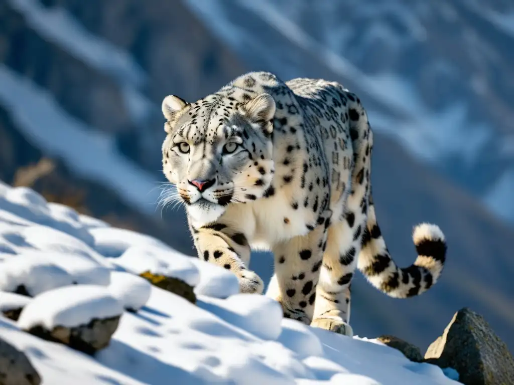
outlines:
[{"label": "dark rock cut off by the bottom left corner", "polygon": [[39,385],[41,377],[22,351],[0,338],[0,385]]}]

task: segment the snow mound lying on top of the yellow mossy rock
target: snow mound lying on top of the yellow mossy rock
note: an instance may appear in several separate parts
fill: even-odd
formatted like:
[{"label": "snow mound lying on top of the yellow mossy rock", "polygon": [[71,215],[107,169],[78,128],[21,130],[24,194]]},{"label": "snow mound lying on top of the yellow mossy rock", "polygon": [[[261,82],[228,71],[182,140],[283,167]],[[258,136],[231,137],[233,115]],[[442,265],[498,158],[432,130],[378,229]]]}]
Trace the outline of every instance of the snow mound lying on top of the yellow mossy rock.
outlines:
[{"label": "snow mound lying on top of the yellow mossy rock", "polygon": [[161,247],[133,246],[116,258],[115,263],[136,275],[149,271],[196,286],[200,281],[200,273],[191,259],[171,249],[167,251]]}]

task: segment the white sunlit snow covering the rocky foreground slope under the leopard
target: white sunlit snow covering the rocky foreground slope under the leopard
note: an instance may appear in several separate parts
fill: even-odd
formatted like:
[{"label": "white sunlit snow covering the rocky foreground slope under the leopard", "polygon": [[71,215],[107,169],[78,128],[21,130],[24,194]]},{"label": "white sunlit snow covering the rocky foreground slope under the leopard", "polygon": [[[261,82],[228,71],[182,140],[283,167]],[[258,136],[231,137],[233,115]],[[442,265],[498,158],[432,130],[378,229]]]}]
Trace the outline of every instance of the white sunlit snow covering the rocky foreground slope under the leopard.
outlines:
[{"label": "white sunlit snow covering the rocky foreground slope under the leopard", "polygon": [[[160,385],[166,378],[188,384],[457,383],[438,367],[413,363],[375,339],[283,319],[278,302],[238,294],[232,273],[151,237],[78,216],[76,234],[94,240],[85,244],[61,226],[63,218],[75,217],[65,207],[48,209],[48,224],[38,224],[34,207],[47,207],[46,202],[31,196],[21,211],[12,190],[0,184],[0,199],[12,208],[0,211],[0,240],[11,250],[0,260],[0,290],[24,284],[37,295],[0,292],[2,309],[24,306],[17,322],[0,316],[0,338],[27,354],[44,383]],[[195,285],[197,303],[135,275],[145,269],[177,274]],[[94,357],[23,332],[38,324],[78,326],[117,315],[111,342]],[[445,372],[455,378],[454,371]]]}]

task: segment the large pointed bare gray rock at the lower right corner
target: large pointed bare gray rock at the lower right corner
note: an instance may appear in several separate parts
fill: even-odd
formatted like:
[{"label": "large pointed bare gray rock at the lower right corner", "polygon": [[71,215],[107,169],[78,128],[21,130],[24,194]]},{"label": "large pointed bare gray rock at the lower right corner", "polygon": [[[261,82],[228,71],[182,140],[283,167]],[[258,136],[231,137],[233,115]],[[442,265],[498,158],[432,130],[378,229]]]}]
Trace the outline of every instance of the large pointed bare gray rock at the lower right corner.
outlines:
[{"label": "large pointed bare gray rock at the lower right corner", "polygon": [[453,368],[466,385],[514,383],[514,359],[484,318],[464,307],[429,346],[426,362]]}]

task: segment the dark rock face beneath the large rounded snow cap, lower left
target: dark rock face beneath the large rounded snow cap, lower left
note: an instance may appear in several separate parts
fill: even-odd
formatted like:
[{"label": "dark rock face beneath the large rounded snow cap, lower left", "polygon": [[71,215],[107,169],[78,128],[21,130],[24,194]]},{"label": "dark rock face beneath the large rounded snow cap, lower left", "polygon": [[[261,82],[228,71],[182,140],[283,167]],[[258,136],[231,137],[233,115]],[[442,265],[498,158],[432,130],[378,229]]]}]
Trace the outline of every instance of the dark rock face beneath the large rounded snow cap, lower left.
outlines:
[{"label": "dark rock face beneath the large rounded snow cap, lower left", "polygon": [[93,355],[97,351],[107,347],[111,337],[118,328],[120,316],[93,319],[88,324],[67,328],[56,326],[47,330],[43,326],[34,326],[27,332],[48,341],[60,342],[70,348]]}]

